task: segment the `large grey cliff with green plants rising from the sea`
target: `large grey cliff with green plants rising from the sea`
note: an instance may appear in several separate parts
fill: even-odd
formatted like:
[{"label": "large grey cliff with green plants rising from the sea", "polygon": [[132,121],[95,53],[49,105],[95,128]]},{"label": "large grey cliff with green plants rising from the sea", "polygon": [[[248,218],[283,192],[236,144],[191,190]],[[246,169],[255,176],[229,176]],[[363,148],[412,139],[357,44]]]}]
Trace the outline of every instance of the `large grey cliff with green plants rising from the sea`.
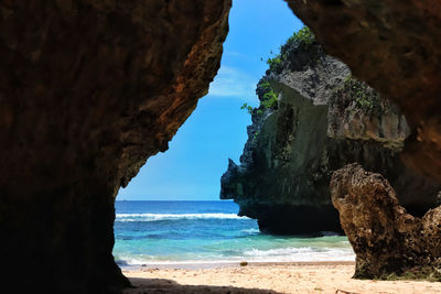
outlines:
[{"label": "large grey cliff with green plants rising from the sea", "polygon": [[271,80],[278,105],[252,111],[240,165],[229,161],[220,179],[222,199],[234,199],[265,232],[341,231],[329,183],[333,171],[358,162],[387,175],[413,214],[437,205],[440,185],[399,157],[409,128],[392,104],[318,43],[286,45],[281,55],[289,56],[282,68],[268,70],[257,88],[263,100]]}]

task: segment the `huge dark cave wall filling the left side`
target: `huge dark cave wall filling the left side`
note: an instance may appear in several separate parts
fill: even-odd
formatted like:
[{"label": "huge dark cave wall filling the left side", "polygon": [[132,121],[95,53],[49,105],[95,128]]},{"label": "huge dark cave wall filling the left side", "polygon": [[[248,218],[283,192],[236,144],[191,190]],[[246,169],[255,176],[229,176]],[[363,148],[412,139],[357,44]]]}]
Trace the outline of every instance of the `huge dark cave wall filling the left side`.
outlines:
[{"label": "huge dark cave wall filling the left side", "polygon": [[4,280],[24,275],[60,293],[128,285],[111,254],[116,194],[207,92],[229,8],[0,3],[0,251],[13,275]]}]

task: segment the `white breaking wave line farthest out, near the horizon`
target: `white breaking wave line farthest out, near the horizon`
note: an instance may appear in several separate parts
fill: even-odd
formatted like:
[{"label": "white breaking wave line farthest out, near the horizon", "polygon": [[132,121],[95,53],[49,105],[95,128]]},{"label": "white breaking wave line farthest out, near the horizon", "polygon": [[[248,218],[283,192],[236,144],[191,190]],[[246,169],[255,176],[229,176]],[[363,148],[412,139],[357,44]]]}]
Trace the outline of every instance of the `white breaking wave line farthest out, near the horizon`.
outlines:
[{"label": "white breaking wave line farthest out, near the horizon", "polygon": [[176,219],[248,219],[236,214],[117,214],[116,221],[157,221]]}]

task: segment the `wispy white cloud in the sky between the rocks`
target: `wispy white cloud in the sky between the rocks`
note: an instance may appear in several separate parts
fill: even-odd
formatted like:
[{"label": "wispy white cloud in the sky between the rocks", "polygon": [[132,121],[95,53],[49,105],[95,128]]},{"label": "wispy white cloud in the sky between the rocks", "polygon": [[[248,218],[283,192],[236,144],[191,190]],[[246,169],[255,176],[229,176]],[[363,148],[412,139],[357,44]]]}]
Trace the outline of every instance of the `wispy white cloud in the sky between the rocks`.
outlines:
[{"label": "wispy white cloud in the sky between the rocks", "polygon": [[212,97],[235,97],[244,101],[256,101],[256,80],[238,68],[222,66],[214,81],[209,84]]}]

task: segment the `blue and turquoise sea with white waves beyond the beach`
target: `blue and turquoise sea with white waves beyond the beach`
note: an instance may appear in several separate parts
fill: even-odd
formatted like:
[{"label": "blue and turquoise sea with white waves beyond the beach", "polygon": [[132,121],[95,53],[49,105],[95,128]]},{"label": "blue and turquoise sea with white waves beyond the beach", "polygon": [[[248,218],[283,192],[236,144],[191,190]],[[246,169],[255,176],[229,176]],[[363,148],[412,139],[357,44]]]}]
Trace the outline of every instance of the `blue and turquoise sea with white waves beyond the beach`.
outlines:
[{"label": "blue and turquoise sea with white waves beyond the beach", "polygon": [[348,261],[346,237],[260,233],[232,202],[117,202],[114,255],[120,265],[237,261]]}]

